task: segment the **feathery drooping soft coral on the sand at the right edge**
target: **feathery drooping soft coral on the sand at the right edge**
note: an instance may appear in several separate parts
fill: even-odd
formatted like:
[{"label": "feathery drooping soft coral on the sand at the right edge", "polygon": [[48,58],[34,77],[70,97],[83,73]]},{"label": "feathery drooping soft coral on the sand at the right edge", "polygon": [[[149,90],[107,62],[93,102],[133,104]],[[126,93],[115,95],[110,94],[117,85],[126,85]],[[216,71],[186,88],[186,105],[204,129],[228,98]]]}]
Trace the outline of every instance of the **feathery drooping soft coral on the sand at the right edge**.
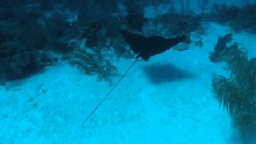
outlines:
[{"label": "feathery drooping soft coral on the sand at the right edge", "polygon": [[238,46],[226,59],[230,78],[215,75],[212,86],[218,102],[226,107],[244,141],[256,142],[256,58],[248,60]]}]

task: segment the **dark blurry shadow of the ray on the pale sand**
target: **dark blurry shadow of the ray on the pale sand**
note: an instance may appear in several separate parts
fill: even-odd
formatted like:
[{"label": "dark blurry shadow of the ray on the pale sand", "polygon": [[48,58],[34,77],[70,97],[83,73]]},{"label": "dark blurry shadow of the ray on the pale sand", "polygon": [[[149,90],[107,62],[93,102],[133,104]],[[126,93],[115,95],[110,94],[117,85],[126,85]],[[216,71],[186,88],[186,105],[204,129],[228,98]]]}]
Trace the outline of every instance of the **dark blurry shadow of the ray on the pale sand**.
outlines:
[{"label": "dark blurry shadow of the ray on the pale sand", "polygon": [[174,82],[186,78],[194,78],[195,75],[171,64],[153,64],[142,66],[146,77],[154,84]]}]

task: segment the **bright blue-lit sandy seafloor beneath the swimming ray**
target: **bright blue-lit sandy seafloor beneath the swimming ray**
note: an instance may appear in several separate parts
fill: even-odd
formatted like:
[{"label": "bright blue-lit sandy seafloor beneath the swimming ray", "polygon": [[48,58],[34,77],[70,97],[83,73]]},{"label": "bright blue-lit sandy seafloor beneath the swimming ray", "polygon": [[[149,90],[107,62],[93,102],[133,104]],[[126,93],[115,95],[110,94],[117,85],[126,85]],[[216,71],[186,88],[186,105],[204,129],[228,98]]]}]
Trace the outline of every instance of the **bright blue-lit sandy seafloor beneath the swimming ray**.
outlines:
[{"label": "bright blue-lit sandy seafloor beneath the swimming ray", "polygon": [[[0,143],[240,143],[230,115],[212,94],[213,74],[228,76],[223,63],[209,53],[227,26],[204,24],[204,46],[168,50],[139,61],[100,109],[84,118],[105,96],[110,85],[59,62],[17,82],[0,86]],[[256,36],[234,33],[250,58]],[[115,62],[121,75],[133,59]],[[114,78],[114,82],[120,78]]]}]

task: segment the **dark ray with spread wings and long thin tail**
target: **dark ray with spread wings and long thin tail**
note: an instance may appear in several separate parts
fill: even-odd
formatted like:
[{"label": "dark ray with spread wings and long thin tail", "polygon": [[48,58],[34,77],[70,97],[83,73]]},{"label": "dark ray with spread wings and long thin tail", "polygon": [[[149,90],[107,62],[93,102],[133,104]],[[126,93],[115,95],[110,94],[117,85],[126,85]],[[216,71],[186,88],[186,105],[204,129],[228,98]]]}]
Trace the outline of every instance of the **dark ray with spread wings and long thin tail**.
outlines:
[{"label": "dark ray with spread wings and long thin tail", "polygon": [[130,49],[134,52],[134,54],[138,54],[138,55],[135,57],[135,61],[126,70],[126,72],[122,74],[122,77],[119,78],[118,82],[115,83],[112,89],[105,95],[104,98],[102,98],[100,102],[98,102],[98,105],[94,107],[94,110],[92,110],[90,114],[84,119],[84,121],[82,122],[82,127],[89,120],[89,118],[95,113],[95,111],[98,110],[98,107],[102,105],[102,103],[106,100],[106,98],[110,96],[111,92],[116,88],[116,86],[118,86],[118,84],[122,81],[122,78],[126,76],[129,70],[134,66],[134,64],[138,62],[139,58],[142,58],[144,61],[148,61],[150,56],[161,54],[162,52],[169,50],[173,46],[178,45],[178,43],[180,42],[186,42],[186,40],[189,38],[186,35],[178,36],[175,38],[163,38],[160,36],[146,37],[143,35],[130,33],[129,31],[126,31],[126,30],[119,30],[119,33],[126,40],[126,42],[130,46]]}]

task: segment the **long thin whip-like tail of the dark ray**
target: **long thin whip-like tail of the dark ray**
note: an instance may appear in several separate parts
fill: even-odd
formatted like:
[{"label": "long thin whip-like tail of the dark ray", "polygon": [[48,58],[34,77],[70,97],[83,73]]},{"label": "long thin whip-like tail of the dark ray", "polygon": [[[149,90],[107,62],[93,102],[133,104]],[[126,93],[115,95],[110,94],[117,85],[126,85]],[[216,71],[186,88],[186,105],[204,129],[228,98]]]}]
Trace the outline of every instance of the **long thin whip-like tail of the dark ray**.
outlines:
[{"label": "long thin whip-like tail of the dark ray", "polygon": [[135,65],[136,62],[138,62],[138,58],[139,55],[136,57],[135,61],[130,65],[130,67],[126,70],[126,72],[124,74],[122,74],[122,77],[119,78],[118,82],[116,82],[114,84],[114,86],[112,87],[112,89],[105,95],[104,98],[102,98],[102,100],[100,102],[98,102],[98,105],[94,107],[94,109],[90,112],[90,114],[84,119],[84,121],[82,122],[81,126],[84,127],[86,122],[90,119],[90,117],[92,115],[94,115],[94,113],[96,112],[96,110],[98,110],[98,108],[100,106],[102,106],[102,103],[106,101],[106,98],[108,98],[111,94],[112,91],[114,91],[114,89],[118,86],[118,84],[122,81],[123,78],[125,78],[126,74],[128,74],[128,72],[130,71],[130,69]]}]

